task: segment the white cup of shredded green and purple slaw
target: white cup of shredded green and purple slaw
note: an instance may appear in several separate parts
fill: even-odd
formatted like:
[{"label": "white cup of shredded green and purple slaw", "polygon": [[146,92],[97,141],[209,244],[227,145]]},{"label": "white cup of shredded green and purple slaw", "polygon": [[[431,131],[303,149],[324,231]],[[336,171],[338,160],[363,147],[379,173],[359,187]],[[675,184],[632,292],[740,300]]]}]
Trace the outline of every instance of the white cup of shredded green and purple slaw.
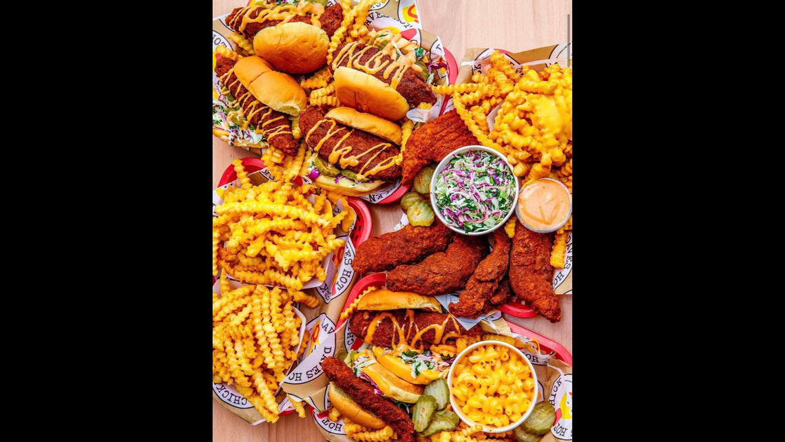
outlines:
[{"label": "white cup of shredded green and purple slaw", "polygon": [[455,149],[431,178],[431,206],[447,228],[478,236],[504,225],[520,192],[513,166],[501,152],[485,146]]}]

